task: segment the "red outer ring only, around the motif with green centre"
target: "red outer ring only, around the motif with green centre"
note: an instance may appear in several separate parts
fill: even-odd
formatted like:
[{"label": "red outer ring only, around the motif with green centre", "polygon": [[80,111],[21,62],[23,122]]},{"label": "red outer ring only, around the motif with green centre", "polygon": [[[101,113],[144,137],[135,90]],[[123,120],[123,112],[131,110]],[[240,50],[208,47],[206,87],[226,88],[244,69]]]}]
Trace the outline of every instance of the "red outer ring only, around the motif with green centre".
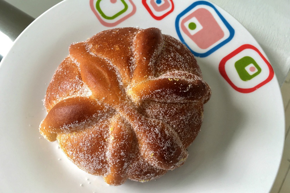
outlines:
[{"label": "red outer ring only, around the motif with green centre", "polygon": [[[264,60],[264,62],[267,64],[268,68],[269,68],[269,76],[266,80],[264,80],[263,82],[259,83],[258,85],[254,86],[253,88],[239,88],[236,85],[234,85],[234,83],[229,79],[228,75],[226,74],[226,70],[225,70],[225,65],[226,62],[231,59],[232,57],[234,57],[235,55],[237,55],[238,53],[242,52],[245,49],[252,49],[254,51],[256,51],[260,57]],[[222,75],[222,77],[224,77],[224,79],[231,85],[231,87],[233,87],[236,91],[238,92],[242,92],[242,93],[250,93],[250,92],[254,92],[255,90],[257,90],[258,88],[262,87],[263,85],[267,84],[268,82],[270,82],[273,77],[274,77],[274,70],[271,66],[271,64],[269,63],[269,61],[263,56],[263,54],[258,50],[258,48],[256,48],[253,45],[250,44],[244,44],[242,46],[240,46],[239,48],[237,48],[236,50],[234,50],[233,52],[231,52],[229,55],[227,55],[226,57],[224,57],[221,61],[220,61],[220,65],[219,65],[219,71],[220,74]]]}]

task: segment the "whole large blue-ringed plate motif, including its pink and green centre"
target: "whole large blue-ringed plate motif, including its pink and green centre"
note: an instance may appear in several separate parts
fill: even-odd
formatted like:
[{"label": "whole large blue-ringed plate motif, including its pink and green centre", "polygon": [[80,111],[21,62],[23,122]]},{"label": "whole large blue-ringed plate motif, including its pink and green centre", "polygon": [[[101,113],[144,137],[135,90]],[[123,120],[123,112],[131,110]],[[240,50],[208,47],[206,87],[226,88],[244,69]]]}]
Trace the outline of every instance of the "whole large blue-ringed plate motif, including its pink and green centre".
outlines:
[{"label": "whole large blue-ringed plate motif, including its pink and green centre", "polygon": [[231,41],[235,30],[207,1],[196,1],[175,20],[178,37],[197,57],[207,57]]}]

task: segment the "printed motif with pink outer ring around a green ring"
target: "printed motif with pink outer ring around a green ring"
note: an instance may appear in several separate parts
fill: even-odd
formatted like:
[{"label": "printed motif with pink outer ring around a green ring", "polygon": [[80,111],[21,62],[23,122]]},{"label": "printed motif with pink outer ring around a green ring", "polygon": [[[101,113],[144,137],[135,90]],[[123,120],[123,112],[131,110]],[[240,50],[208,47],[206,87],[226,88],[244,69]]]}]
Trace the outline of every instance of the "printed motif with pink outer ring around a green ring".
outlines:
[{"label": "printed motif with pink outer ring around a green ring", "polygon": [[132,0],[90,0],[90,8],[107,27],[117,26],[136,12]]}]

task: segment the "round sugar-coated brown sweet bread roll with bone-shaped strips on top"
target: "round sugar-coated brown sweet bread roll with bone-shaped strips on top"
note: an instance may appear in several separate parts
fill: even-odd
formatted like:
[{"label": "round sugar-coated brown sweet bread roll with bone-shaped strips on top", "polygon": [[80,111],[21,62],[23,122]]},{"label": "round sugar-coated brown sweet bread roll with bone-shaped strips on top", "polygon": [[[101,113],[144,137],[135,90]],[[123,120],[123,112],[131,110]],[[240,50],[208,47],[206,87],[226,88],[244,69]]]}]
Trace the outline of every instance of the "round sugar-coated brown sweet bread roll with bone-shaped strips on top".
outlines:
[{"label": "round sugar-coated brown sweet bread roll with bone-shaped strips on top", "polygon": [[181,166],[211,90],[188,48],[157,28],[73,43],[46,92],[39,131],[82,170],[121,185]]}]

